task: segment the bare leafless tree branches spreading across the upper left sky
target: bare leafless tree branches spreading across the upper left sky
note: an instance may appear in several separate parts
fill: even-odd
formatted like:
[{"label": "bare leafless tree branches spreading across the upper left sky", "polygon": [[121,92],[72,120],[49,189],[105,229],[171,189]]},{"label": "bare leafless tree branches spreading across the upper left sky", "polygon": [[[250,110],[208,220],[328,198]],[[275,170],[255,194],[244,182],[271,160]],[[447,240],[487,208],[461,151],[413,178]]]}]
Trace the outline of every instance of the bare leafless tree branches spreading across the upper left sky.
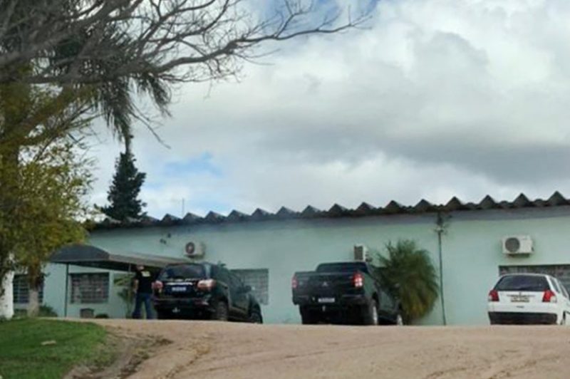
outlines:
[{"label": "bare leafless tree branches spreading across the upper left sky", "polygon": [[[33,84],[93,84],[140,75],[169,83],[215,80],[237,73],[237,61],[254,58],[260,43],[338,33],[367,19],[349,15],[339,23],[336,14],[315,23],[313,4],[291,0],[261,20],[242,0],[39,3],[0,0],[0,83],[11,81],[12,69],[29,61],[36,71],[25,80]],[[74,44],[81,48],[73,51]]]}]

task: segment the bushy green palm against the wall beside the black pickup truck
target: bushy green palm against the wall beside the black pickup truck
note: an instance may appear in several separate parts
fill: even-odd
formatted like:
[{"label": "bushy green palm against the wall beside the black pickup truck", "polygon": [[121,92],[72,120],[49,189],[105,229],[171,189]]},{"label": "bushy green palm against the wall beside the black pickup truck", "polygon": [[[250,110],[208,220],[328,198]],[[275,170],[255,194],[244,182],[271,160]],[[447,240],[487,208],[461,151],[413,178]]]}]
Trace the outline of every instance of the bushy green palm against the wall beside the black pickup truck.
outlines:
[{"label": "bushy green palm against the wall beside the black pickup truck", "polygon": [[378,256],[380,276],[390,294],[400,299],[403,318],[410,322],[425,316],[439,293],[429,253],[409,239],[388,242],[386,251],[388,256]]}]

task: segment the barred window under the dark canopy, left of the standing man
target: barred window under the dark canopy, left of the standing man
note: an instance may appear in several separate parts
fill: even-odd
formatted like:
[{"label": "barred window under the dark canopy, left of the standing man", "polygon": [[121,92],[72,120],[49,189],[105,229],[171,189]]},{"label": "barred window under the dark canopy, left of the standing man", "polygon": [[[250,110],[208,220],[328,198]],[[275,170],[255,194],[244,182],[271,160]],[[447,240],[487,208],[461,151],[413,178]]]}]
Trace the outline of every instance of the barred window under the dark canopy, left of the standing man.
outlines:
[{"label": "barred window under the dark canopy, left of the standing man", "polygon": [[71,303],[106,303],[109,298],[109,274],[70,274]]}]

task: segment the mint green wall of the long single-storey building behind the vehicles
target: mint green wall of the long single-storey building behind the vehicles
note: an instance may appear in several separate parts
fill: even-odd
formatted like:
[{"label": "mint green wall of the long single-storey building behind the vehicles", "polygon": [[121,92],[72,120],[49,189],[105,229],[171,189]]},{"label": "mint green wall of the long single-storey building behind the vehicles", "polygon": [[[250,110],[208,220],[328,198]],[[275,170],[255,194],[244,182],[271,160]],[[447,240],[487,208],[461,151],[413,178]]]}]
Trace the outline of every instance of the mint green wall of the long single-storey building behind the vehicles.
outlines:
[{"label": "mint green wall of the long single-storey building behind the vehicles", "polygon": [[[221,261],[254,287],[268,323],[299,323],[291,303],[291,276],[324,261],[355,259],[355,246],[382,251],[398,239],[413,239],[430,251],[439,271],[445,320],[450,325],[487,324],[487,293],[500,272],[538,271],[570,286],[570,201],[556,192],[547,200],[519,195],[512,202],[485,197],[478,204],[453,198],[447,204],[420,201],[413,207],[390,202],[376,208],[334,205],[328,211],[257,209],[252,215],[187,214],[118,224],[107,219],[91,232],[89,243],[110,252],[185,259],[193,242],[204,261]],[[66,269],[68,269],[66,274]],[[116,284],[120,271],[49,264],[43,303],[59,316],[104,313],[125,317],[127,303]],[[66,282],[67,281],[67,282]],[[67,296],[66,296],[67,291]],[[16,308],[26,306],[23,276],[14,280]],[[444,323],[438,301],[420,324]]]}]

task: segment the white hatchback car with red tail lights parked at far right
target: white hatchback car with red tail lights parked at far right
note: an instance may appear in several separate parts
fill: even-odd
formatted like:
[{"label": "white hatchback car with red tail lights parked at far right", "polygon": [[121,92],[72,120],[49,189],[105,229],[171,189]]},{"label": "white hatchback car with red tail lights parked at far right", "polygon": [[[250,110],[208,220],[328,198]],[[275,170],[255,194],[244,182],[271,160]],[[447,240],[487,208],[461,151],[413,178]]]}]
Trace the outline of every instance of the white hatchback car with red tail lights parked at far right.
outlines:
[{"label": "white hatchback car with red tail lights parked at far right", "polygon": [[487,304],[491,324],[570,324],[568,291],[550,275],[503,275],[489,291]]}]

